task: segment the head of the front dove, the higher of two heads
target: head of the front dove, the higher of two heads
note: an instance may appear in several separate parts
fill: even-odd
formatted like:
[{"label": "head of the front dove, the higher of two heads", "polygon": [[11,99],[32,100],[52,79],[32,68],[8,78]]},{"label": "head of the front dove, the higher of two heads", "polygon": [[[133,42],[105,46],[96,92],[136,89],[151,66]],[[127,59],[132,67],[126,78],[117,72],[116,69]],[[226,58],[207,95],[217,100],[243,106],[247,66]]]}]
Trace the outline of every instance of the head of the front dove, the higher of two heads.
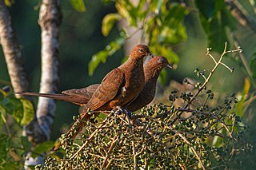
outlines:
[{"label": "head of the front dove, the higher of two heads", "polygon": [[136,45],[132,52],[130,53],[130,57],[135,57],[138,59],[141,59],[146,56],[153,57],[147,45]]}]

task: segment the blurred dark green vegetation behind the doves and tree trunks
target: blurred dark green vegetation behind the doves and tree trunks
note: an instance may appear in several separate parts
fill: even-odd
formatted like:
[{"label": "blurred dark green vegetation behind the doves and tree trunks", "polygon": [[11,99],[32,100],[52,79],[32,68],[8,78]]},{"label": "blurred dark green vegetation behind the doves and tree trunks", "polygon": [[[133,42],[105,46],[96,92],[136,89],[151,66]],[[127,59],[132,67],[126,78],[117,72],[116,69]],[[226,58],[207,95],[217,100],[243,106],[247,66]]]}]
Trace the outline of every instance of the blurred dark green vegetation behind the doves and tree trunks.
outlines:
[{"label": "blurred dark green vegetation behind the doves and tree trunks", "polygon": [[[61,6],[63,16],[59,38],[60,92],[65,89],[80,88],[100,82],[102,77],[120,65],[123,57],[126,56],[129,50],[126,49],[126,46],[129,46],[133,31],[138,30],[141,35],[134,35],[134,37],[138,37],[138,42],[148,44],[153,53],[167,57],[170,62],[176,65],[176,69],[162,73],[161,84],[158,85],[158,94],[154,103],[161,101],[166,105],[170,105],[168,99],[173,89],[181,92],[182,88],[186,88],[186,84],[182,84],[184,78],[196,84],[197,81],[203,81],[200,71],[206,69],[202,73],[208,74],[207,69],[211,70],[214,67],[214,62],[209,56],[206,57],[207,47],[211,47],[214,57],[218,58],[218,53],[222,53],[225,42],[228,42],[228,49],[242,46],[242,54],[230,53],[223,59],[226,64],[228,63],[227,65],[234,67],[234,73],[230,73],[225,67],[218,67],[207,88],[214,92],[214,101],[209,104],[210,107],[223,103],[231,93],[236,93],[235,97],[238,104],[234,107],[232,105],[228,114],[230,116],[235,113],[241,117],[242,125],[249,126],[249,131],[244,131],[246,135],[242,136],[243,142],[239,143],[242,150],[236,152],[240,155],[232,157],[234,162],[239,163],[239,166],[227,164],[227,167],[230,166],[234,169],[254,168],[255,156],[253,154],[256,141],[253,126],[255,122],[254,85],[256,80],[254,55],[256,7],[254,1],[234,1],[233,3],[233,1],[224,0],[207,2],[203,0],[192,2],[153,0],[139,1],[137,3],[142,4],[142,6],[134,6],[132,5],[133,2],[130,1],[96,0],[85,1],[84,9],[81,7],[82,5],[74,5],[77,4],[76,1],[70,2],[63,1]],[[150,5],[145,7],[143,3],[146,2],[150,2]],[[25,68],[30,79],[30,91],[33,92],[38,92],[40,75],[39,6],[40,2],[15,1],[11,3],[8,9],[18,42],[22,46]],[[144,11],[143,8],[147,10]],[[82,12],[83,10],[85,11]],[[123,25],[124,20],[128,26]],[[130,27],[134,29],[131,30],[131,33],[128,30]],[[3,56],[2,50],[1,56]],[[201,75],[199,80],[197,73],[194,73],[195,68],[199,69],[199,75]],[[1,86],[10,85],[4,57],[0,57],[0,71]],[[8,92],[8,90],[6,91]],[[180,96],[178,95],[178,97]],[[1,99],[6,98],[18,100],[10,93],[2,92]],[[184,97],[182,100],[186,101]],[[34,98],[34,103],[36,102],[37,99]],[[2,102],[1,105],[8,105],[8,102]],[[179,106],[182,105],[180,102]],[[8,109],[9,107],[5,108]],[[14,109],[20,110],[21,106]],[[23,109],[26,110],[26,107]],[[8,113],[14,113],[14,110],[1,110],[2,117],[6,117]],[[74,121],[72,117],[77,113],[78,106],[57,101],[51,140],[56,140],[62,132],[66,132],[66,128],[69,128],[70,123]],[[16,117],[15,120],[18,125],[24,125],[21,118]],[[10,162],[15,162],[17,167],[20,167],[24,158],[23,155],[30,151],[31,144],[25,136],[19,137],[22,128],[17,126],[11,117],[6,117],[6,122],[5,119],[2,119],[1,124],[3,133],[1,133],[0,147],[2,150],[0,152],[4,153],[1,160],[6,158],[7,153],[11,153],[7,163],[2,162],[2,167],[10,166]],[[10,129],[6,128],[8,127],[6,125]],[[8,131],[10,132],[8,133]],[[10,140],[6,134],[17,137],[17,140]],[[18,144],[22,144],[19,150],[17,150]],[[42,145],[43,149],[39,146],[34,148],[33,152],[34,154],[45,152],[50,150],[53,144],[54,142],[47,141]],[[222,144],[217,142],[212,146],[222,147]],[[239,148],[239,144],[237,148]],[[230,145],[226,145],[226,147],[228,148]],[[12,148],[13,150],[6,151],[5,148]],[[210,148],[207,151],[210,152]],[[246,152],[250,154],[246,154]],[[197,166],[193,161],[190,164],[194,164],[194,167]]]}]

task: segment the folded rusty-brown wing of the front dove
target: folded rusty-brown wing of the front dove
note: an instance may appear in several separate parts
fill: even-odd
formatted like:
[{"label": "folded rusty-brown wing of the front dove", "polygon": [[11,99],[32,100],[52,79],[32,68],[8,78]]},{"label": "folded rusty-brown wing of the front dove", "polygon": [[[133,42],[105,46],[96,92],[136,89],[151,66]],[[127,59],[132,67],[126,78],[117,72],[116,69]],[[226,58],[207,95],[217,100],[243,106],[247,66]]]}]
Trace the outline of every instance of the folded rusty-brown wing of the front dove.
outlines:
[{"label": "folded rusty-brown wing of the front dove", "polygon": [[112,100],[118,91],[122,89],[124,77],[124,73],[119,68],[113,69],[110,73],[106,74],[93,97],[88,101],[86,108],[96,110]]}]

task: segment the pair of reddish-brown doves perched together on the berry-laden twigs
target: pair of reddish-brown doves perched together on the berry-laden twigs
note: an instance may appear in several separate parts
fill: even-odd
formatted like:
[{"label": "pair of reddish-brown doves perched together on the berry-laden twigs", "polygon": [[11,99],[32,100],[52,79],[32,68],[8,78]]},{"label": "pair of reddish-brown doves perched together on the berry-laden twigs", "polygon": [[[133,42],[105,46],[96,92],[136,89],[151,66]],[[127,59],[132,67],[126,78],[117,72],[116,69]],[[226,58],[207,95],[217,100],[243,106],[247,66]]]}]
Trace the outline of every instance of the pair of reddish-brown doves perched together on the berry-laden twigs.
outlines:
[{"label": "pair of reddish-brown doves perched together on the berry-laden twigs", "polygon": [[[84,121],[89,121],[90,117],[92,117],[88,110],[110,111],[121,106],[134,112],[153,101],[158,76],[163,68],[171,68],[171,65],[166,57],[155,56],[143,68],[143,58],[146,56],[153,57],[146,45],[135,46],[128,60],[118,68],[110,71],[110,73],[107,73],[100,84],[90,85],[82,89],[66,90],[62,94],[18,94],[50,97],[69,101],[76,105],[84,105],[82,113],[80,113],[82,121],[77,121],[75,125],[76,132],[80,132],[85,124]],[[73,127],[74,125],[67,134],[70,133]],[[58,144],[54,149],[58,149],[60,145]]]}]

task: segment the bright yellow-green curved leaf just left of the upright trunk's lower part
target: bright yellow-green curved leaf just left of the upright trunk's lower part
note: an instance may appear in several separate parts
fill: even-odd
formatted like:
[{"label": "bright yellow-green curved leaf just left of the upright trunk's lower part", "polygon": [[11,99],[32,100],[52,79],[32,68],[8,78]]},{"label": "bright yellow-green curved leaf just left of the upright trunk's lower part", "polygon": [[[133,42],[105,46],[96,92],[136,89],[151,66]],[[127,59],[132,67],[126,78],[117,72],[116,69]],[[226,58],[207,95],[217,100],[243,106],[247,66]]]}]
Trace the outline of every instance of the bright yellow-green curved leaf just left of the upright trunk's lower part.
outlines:
[{"label": "bright yellow-green curved leaf just left of the upright trunk's lower part", "polygon": [[21,125],[28,125],[34,119],[34,107],[32,103],[26,99],[20,99],[23,107],[23,117]]}]

